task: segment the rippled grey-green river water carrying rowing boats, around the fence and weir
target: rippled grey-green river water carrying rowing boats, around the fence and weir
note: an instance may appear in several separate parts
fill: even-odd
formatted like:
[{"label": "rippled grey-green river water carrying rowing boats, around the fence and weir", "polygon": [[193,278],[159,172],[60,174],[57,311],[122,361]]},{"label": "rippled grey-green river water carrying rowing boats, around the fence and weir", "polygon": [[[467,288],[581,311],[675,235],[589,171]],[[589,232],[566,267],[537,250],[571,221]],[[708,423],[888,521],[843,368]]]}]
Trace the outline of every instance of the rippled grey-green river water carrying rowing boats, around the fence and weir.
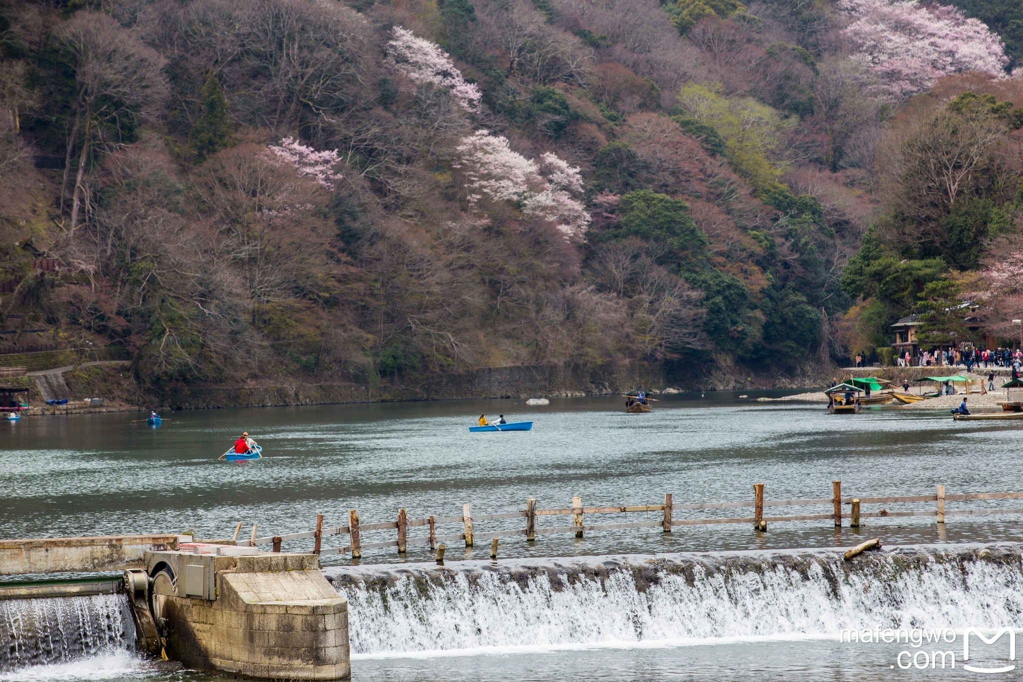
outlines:
[{"label": "rippled grey-green river water carrying rowing boats, around the fence and weir", "polygon": [[[0,424],[6,431],[0,431],[0,536],[193,530],[202,537],[230,537],[239,521],[242,537],[254,524],[259,536],[268,536],[310,530],[317,513],[324,514],[327,527],[345,525],[349,509],[357,509],[366,524],[393,520],[398,508],[406,508],[410,518],[419,518],[431,513],[459,515],[463,503],[473,505],[474,515],[516,511],[524,508],[528,498],[535,498],[541,508],[568,507],[575,495],[582,497],[585,506],[658,504],[665,493],[672,493],[676,504],[740,501],[752,497],[753,483],[765,484],[768,500],[830,497],[832,481],[842,481],[844,495],[861,497],[933,494],[939,484],[948,493],[1023,490],[1018,457],[1021,431],[1015,422],[954,422],[945,412],[890,407],[836,416],[819,404],[758,403],[753,399],[766,394],[749,395],[749,399],[731,393],[665,396],[646,415],[624,414],[620,399],[586,398],[552,399],[543,407],[501,400],[186,411],[165,414],[159,428],[130,423],[139,415],[28,418]],[[470,434],[468,426],[480,412],[503,413],[509,421],[530,419],[534,428]],[[217,456],[242,429],[263,445],[265,458],[248,463],[218,461]],[[888,508],[926,509],[932,504]],[[952,509],[962,504],[949,502],[947,506]],[[969,504],[978,508],[1014,503]],[[829,510],[819,506],[784,509],[768,513]],[[676,511],[675,518],[699,517],[700,513]],[[718,515],[749,513],[749,509],[739,509]],[[591,515],[586,522],[653,520],[660,514],[623,516]],[[568,525],[569,518],[541,517],[538,527]],[[837,530],[826,520],[774,524],[764,534],[737,525],[678,528],[670,535],[656,528],[593,532],[583,539],[572,534],[541,535],[533,543],[522,537],[502,538],[497,565],[534,570],[542,557],[578,557],[574,560],[582,565],[603,565],[609,555],[683,557],[688,552],[717,550],[754,550],[761,557],[758,561],[772,565],[772,550],[848,546],[869,537],[881,537],[888,546],[1023,542],[1023,519],[1014,515],[949,517],[945,528],[935,525],[933,517],[868,520],[858,530]],[[475,549],[447,543],[448,566],[490,563],[487,532],[518,528],[521,522],[518,518],[477,522]],[[410,537],[417,537],[419,531],[413,529]],[[438,532],[459,531],[456,524]],[[391,534],[365,533],[362,542],[391,540]],[[341,538],[347,536],[328,538],[324,546],[343,544]],[[285,543],[284,549],[307,546],[297,541]],[[940,550],[933,551],[940,556]],[[367,550],[354,572],[375,570],[373,564],[392,573],[402,565],[419,570],[429,558],[426,545],[410,545],[403,558],[393,548]],[[1012,560],[1016,567],[1008,574],[978,566],[959,585],[964,594],[986,594],[989,601],[1004,606],[998,611],[1002,621],[979,622],[977,627],[995,627],[1007,619],[1013,622],[1005,625],[1023,627],[1009,596],[1019,592],[1013,581],[1017,573],[1023,576],[1023,569]],[[324,563],[333,564],[327,569],[331,576],[355,575],[346,569],[351,565],[349,559],[330,557]],[[929,564],[921,565],[915,569],[919,573],[916,591],[904,591],[910,602],[940,598],[959,580],[931,575]],[[621,566],[615,571],[632,575]],[[960,574],[966,575],[955,575]],[[833,636],[839,627],[874,627],[866,623],[871,619],[898,626],[901,621],[893,616],[896,611],[876,604],[863,606],[834,594],[834,603],[820,605],[826,597],[807,587],[816,584],[814,579],[805,572],[800,575],[802,583],[780,580],[747,585],[742,581],[718,584],[713,571],[706,576],[701,573],[700,580],[709,581],[704,602],[713,603],[712,594],[728,595],[721,597],[724,601],[713,613],[702,615],[691,613],[699,590],[686,591],[696,590],[694,586],[700,584],[696,579],[683,588],[665,577],[662,582],[668,587],[654,592],[619,586],[620,594],[615,591],[619,588],[609,587],[614,581],[607,580],[568,591],[550,588],[542,576],[527,583],[488,584],[486,589],[475,579],[465,579],[465,584],[449,581],[436,588],[443,595],[440,601],[425,602],[432,606],[408,605],[401,618],[382,604],[400,603],[401,581],[407,578],[394,579],[390,589],[397,592],[383,596],[357,584],[338,584],[352,602],[353,675],[357,680],[887,679],[889,675],[923,675],[890,668],[904,646],[863,649],[862,645],[840,645]],[[800,607],[803,616],[794,618],[779,608],[764,611],[765,624],[752,631],[746,627],[748,609],[724,608],[726,603],[744,604],[771,590],[772,603],[796,600],[804,604]],[[576,596],[565,601],[566,594]],[[615,607],[616,599],[619,605],[631,600],[633,611],[628,612],[634,612],[634,618],[601,632],[581,629],[565,636],[562,628],[563,634],[557,636],[534,636],[537,624],[558,621],[566,612],[599,619]],[[919,613],[906,623],[969,627],[981,611],[965,597],[961,602],[958,610],[945,611],[913,602]],[[436,603],[454,604],[453,611],[460,616],[449,623],[435,612]],[[481,604],[502,605],[503,625],[497,627],[484,618]],[[516,619],[523,629],[505,627]],[[695,624],[690,623],[692,619]],[[478,622],[477,632],[472,636],[443,634],[448,626],[457,626],[451,632],[460,632],[458,628],[465,624],[458,625],[459,621]],[[407,624],[404,630],[388,630],[402,622]],[[414,632],[414,624],[427,629]],[[384,637],[385,632],[391,636]],[[395,647],[396,638],[404,644]],[[118,635],[108,646],[100,643],[77,657],[62,654],[47,665],[15,668],[0,674],[0,679],[205,679],[153,668],[127,653],[123,639]],[[390,644],[381,643],[385,641]],[[940,671],[935,674],[947,676]]]}]

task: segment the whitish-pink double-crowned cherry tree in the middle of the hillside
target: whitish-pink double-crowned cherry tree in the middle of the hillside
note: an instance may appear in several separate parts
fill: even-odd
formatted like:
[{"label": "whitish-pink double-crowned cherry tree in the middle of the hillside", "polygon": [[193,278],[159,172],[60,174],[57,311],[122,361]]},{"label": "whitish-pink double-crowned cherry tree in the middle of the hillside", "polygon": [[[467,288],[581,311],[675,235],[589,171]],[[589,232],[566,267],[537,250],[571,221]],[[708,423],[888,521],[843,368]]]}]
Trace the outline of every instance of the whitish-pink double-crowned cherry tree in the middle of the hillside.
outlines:
[{"label": "whitish-pink double-crowned cherry tree in the middle of the hillside", "polygon": [[511,201],[528,218],[554,223],[567,239],[585,232],[590,216],[576,198],[583,189],[578,168],[551,152],[539,162],[527,158],[507,138],[486,130],[462,138],[456,151],[459,161],[452,166],[464,172],[471,207],[483,198]]}]

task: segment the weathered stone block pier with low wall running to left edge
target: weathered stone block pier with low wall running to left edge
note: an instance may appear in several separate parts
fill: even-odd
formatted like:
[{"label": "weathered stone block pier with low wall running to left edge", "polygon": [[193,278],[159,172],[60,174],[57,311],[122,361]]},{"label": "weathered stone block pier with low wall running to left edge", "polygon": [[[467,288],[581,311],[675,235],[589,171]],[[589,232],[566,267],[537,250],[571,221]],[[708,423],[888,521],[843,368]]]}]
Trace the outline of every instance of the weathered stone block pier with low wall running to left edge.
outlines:
[{"label": "weathered stone block pier with low wall running to left edge", "polygon": [[123,581],[12,584],[0,599],[121,591],[136,645],[147,654],[248,679],[351,676],[348,602],[323,577],[315,554],[261,552],[188,536],[0,541],[0,575],[113,569],[124,569]]}]

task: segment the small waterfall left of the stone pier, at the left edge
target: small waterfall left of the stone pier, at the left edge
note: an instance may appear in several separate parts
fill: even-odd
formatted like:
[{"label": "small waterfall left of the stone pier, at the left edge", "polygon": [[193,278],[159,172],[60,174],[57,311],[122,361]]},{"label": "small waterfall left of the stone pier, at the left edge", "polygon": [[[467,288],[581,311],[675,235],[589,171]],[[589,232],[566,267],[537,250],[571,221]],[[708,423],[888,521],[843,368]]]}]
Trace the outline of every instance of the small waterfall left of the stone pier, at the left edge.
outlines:
[{"label": "small waterfall left of the stone pier, at the left edge", "polygon": [[113,653],[134,641],[123,594],[0,601],[0,671]]}]

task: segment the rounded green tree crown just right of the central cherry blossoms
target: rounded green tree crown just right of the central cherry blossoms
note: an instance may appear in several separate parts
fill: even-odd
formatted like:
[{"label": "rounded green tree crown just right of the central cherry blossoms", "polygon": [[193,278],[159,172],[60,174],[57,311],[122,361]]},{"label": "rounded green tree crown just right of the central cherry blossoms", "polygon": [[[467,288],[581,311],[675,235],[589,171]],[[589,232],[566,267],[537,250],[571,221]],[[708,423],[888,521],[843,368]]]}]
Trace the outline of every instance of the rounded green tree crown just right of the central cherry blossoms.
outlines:
[{"label": "rounded green tree crown just right of the central cherry blossoms", "polygon": [[693,265],[703,259],[707,235],[693,221],[685,201],[638,189],[622,196],[618,207],[621,212],[620,229],[615,235],[618,238],[637,236],[663,244],[671,249],[669,260],[675,263]]}]

